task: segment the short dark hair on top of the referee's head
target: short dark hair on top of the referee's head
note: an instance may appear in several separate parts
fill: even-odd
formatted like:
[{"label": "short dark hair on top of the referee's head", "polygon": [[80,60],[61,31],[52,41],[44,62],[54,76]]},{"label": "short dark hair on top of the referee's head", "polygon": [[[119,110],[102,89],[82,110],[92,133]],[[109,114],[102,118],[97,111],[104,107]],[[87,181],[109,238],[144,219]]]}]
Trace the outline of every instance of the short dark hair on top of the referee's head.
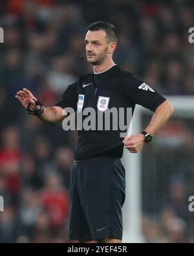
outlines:
[{"label": "short dark hair on top of the referee's head", "polygon": [[87,27],[87,30],[90,31],[98,31],[101,29],[106,32],[108,41],[117,42],[117,31],[113,24],[105,21],[96,21]]}]

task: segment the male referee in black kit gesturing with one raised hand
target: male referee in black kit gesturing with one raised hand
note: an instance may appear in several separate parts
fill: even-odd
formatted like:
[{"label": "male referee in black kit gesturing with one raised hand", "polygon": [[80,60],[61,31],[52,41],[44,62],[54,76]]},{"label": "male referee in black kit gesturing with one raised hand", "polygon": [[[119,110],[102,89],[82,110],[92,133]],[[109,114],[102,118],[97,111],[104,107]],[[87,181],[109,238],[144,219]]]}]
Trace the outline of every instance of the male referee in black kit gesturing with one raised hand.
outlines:
[{"label": "male referee in black kit gesturing with one raised hand", "polygon": [[[140,104],[154,112],[142,133],[124,139],[117,130],[79,130],[70,183],[69,239],[80,242],[122,242],[122,205],[125,201],[125,169],[120,158],[124,146],[137,153],[166,124],[173,107],[162,95],[113,62],[117,32],[111,23],[97,21],[87,28],[85,49],[93,73],[81,76],[63,93],[56,106],[44,108],[28,89],[16,99],[28,113],[45,122],[67,117],[64,108],[80,112],[91,107],[131,108]],[[64,113],[64,112],[63,112]]]}]

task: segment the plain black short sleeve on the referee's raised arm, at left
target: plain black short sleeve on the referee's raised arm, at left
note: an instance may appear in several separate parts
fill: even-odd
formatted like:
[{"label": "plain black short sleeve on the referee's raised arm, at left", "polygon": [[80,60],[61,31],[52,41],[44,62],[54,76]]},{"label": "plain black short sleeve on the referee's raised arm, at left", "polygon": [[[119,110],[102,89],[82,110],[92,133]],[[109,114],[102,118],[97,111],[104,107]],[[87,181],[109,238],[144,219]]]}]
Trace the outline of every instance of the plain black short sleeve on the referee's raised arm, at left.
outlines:
[{"label": "plain black short sleeve on the referee's raised arm, at left", "polygon": [[73,108],[74,111],[77,109],[77,93],[76,83],[70,84],[65,92],[63,93],[59,102],[55,105],[61,108]]}]

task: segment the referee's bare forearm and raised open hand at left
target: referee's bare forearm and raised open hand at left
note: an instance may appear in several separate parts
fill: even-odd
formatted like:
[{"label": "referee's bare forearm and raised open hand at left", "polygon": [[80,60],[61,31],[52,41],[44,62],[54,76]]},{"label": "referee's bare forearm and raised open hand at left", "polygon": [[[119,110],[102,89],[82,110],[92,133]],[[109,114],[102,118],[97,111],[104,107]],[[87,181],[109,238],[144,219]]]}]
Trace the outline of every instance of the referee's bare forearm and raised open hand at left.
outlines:
[{"label": "referee's bare forearm and raised open hand at left", "polygon": [[[27,110],[28,104],[30,103],[29,110],[39,111],[40,106],[36,105],[36,98],[32,93],[24,88],[23,91],[17,91],[16,99],[24,106]],[[38,114],[37,117],[41,119],[41,121],[48,122],[50,124],[57,124],[62,121],[67,116],[67,113],[63,110],[63,108],[59,106],[47,107],[43,108],[41,114]]]}]

